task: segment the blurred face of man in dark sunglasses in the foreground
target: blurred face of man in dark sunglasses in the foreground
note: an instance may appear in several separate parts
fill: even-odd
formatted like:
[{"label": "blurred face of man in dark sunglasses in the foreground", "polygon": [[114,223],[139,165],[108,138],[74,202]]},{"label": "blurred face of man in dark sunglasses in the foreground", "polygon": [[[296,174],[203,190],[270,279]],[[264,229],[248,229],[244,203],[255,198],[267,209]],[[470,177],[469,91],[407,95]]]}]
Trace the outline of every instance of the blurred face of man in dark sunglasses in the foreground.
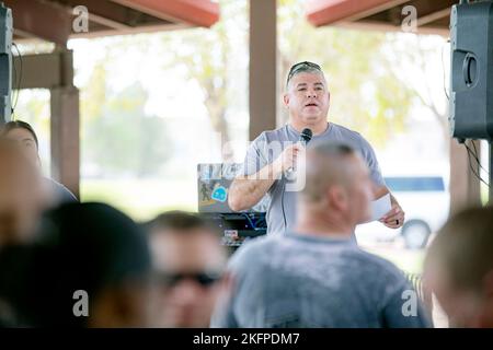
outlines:
[{"label": "blurred face of man in dark sunglasses in the foreground", "polygon": [[158,282],[158,327],[209,327],[214,307],[229,290],[220,238],[196,214],[171,211],[148,223]]}]

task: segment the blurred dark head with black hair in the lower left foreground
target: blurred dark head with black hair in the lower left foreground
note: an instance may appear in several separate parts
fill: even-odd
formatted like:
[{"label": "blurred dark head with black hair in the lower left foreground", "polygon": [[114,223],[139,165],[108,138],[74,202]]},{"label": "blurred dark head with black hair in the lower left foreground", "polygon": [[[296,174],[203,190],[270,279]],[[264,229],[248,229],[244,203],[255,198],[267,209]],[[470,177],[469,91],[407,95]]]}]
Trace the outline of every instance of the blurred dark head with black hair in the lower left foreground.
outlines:
[{"label": "blurred dark head with black hair in the lower left foreground", "polygon": [[102,203],[65,205],[35,243],[0,250],[3,324],[150,326],[149,272],[147,238],[131,219]]}]

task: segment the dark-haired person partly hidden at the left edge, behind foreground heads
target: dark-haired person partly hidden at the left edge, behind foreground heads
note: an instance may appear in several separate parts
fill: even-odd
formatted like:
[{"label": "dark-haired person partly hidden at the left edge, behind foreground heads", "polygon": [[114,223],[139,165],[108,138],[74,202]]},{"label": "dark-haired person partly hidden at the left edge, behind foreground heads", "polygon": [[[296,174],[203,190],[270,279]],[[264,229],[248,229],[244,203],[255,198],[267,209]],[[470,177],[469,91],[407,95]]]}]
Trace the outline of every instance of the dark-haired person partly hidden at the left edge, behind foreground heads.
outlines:
[{"label": "dark-haired person partly hidden at the left edge, behind foreground heads", "polygon": [[[0,130],[1,136],[18,142],[33,164],[41,167],[39,142],[36,132],[30,124],[22,120],[12,120],[3,125]],[[67,187],[49,177],[45,177],[45,188],[55,205],[78,201]]]}]

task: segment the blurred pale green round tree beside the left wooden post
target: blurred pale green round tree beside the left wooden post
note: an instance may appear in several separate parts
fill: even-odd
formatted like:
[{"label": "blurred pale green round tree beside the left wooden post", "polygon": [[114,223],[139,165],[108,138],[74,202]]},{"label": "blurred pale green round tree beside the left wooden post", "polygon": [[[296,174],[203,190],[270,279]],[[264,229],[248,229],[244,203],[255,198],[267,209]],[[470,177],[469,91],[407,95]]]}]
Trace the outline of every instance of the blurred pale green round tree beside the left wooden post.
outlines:
[{"label": "blurred pale green round tree beside the left wooden post", "polygon": [[159,175],[172,150],[164,119],[144,110],[147,92],[135,83],[116,94],[105,91],[104,95],[105,103],[93,101],[99,107],[87,106],[88,112],[98,114],[84,116],[84,161],[98,164],[106,175]]}]

